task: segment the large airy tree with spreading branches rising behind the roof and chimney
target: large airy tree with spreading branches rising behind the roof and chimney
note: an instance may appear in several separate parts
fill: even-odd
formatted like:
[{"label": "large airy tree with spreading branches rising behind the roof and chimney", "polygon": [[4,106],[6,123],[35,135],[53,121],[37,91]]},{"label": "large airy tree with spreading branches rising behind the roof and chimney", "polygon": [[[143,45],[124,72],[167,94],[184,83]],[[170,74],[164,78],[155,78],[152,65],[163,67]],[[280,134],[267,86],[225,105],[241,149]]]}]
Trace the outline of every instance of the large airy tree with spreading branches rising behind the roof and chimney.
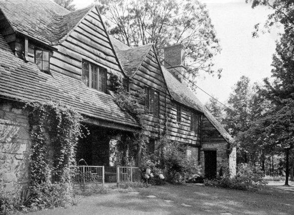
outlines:
[{"label": "large airy tree with spreading branches rising behind the roof and chimney", "polygon": [[109,33],[128,46],[153,43],[163,61],[163,48],[183,44],[188,78],[213,70],[212,58],[221,51],[205,4],[197,0],[99,0]]}]

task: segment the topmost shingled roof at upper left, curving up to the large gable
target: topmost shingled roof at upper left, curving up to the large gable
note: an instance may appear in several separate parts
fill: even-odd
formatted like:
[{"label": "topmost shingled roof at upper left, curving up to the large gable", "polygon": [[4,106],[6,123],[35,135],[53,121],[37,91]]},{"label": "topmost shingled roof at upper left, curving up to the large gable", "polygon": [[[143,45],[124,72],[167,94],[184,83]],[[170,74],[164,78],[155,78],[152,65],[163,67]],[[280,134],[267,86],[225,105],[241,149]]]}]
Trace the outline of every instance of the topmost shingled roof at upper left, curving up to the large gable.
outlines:
[{"label": "topmost shingled roof at upper left, curving up to the large gable", "polygon": [[71,12],[51,0],[0,0],[0,10],[14,31],[48,45],[62,42],[94,6]]}]

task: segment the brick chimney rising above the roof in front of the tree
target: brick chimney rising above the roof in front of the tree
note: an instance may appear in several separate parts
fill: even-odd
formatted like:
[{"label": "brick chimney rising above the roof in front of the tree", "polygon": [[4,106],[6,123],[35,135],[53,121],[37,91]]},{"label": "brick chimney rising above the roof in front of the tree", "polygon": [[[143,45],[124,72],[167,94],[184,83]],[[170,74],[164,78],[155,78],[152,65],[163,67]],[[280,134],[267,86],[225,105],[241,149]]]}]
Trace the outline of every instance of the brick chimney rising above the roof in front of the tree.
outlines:
[{"label": "brick chimney rising above the roof in front of the tree", "polygon": [[185,67],[185,48],[182,44],[164,48],[164,67],[183,82],[183,75],[186,75],[187,68]]}]

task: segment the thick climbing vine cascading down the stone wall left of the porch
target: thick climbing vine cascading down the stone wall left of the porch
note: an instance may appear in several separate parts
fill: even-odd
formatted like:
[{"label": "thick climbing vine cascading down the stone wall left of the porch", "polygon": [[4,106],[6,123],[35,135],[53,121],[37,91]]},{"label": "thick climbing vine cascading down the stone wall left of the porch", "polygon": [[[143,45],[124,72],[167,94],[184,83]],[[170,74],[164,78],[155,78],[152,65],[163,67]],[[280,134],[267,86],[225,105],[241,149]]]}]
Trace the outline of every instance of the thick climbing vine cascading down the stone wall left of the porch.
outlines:
[{"label": "thick climbing vine cascading down the stone wall left of the porch", "polygon": [[81,120],[72,108],[59,102],[28,101],[30,135],[30,206],[37,208],[64,205],[72,190],[71,167],[75,147],[82,137]]}]

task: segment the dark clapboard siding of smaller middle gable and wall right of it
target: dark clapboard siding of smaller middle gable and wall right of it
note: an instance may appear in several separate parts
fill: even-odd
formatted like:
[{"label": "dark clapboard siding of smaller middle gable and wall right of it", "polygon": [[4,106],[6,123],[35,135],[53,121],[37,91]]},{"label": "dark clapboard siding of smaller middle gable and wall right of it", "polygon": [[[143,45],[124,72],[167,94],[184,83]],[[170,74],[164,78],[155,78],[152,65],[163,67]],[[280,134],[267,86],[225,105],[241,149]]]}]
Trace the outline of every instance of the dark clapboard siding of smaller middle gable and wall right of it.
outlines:
[{"label": "dark clapboard siding of smaller middle gable and wall right of it", "polygon": [[[151,137],[158,138],[160,129],[163,128],[162,123],[167,115],[168,121],[168,137],[170,140],[182,143],[189,143],[198,146],[200,144],[200,135],[190,131],[190,115],[191,110],[182,107],[182,122],[176,121],[176,104],[172,101],[159,62],[155,57],[153,48],[149,51],[138,71],[131,80],[130,90],[136,91],[144,89],[144,87],[154,88],[159,92],[159,117],[153,117],[150,114],[145,115],[145,123],[147,130],[150,131]],[[141,101],[143,106],[145,101]]]}]

